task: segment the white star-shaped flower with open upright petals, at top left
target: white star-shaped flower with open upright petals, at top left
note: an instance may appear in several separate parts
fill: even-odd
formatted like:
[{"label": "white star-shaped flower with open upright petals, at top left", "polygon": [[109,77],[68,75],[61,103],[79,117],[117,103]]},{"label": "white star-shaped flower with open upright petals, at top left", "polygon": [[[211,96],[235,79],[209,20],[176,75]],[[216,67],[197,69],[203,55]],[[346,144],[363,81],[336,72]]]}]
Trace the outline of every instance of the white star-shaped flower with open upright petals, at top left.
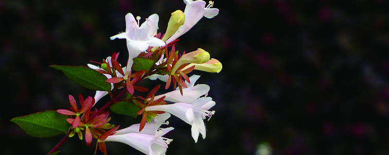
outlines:
[{"label": "white star-shaped flower with open upright petals, at top left", "polygon": [[129,53],[127,62],[127,71],[131,70],[132,59],[137,57],[142,51],[145,51],[149,46],[160,47],[166,45],[162,40],[153,37],[154,33],[158,29],[159,16],[153,14],[146,18],[146,21],[139,26],[139,20],[141,17],[137,16],[137,21],[131,13],[125,15],[125,32],[114,35],[111,40],[116,38],[126,39],[127,49]]}]

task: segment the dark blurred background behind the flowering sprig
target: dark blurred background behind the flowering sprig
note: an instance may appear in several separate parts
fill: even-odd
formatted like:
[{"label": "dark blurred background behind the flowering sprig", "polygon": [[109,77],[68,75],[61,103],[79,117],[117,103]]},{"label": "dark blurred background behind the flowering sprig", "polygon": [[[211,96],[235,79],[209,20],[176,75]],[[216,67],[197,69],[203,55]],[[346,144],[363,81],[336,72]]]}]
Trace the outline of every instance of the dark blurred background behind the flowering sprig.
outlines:
[{"label": "dark blurred background behind the flowering sprig", "polygon": [[[175,130],[167,155],[388,155],[389,10],[386,0],[215,0],[220,10],[180,37],[223,63],[197,83],[211,86],[216,111],[207,138],[190,125]],[[94,95],[49,65],[86,65],[120,52],[124,16],[157,13],[164,33],[183,0],[1,0],[1,155],[47,154],[63,135],[34,138],[10,120],[70,107],[68,94]],[[145,81],[152,88],[159,81]],[[108,100],[104,98],[103,101]],[[99,105],[100,103],[100,105]],[[99,102],[97,106],[103,103]],[[111,114],[121,128],[139,123]],[[109,155],[142,155],[119,142]],[[60,155],[92,155],[95,143],[73,138]],[[98,152],[97,155],[102,155]]]}]

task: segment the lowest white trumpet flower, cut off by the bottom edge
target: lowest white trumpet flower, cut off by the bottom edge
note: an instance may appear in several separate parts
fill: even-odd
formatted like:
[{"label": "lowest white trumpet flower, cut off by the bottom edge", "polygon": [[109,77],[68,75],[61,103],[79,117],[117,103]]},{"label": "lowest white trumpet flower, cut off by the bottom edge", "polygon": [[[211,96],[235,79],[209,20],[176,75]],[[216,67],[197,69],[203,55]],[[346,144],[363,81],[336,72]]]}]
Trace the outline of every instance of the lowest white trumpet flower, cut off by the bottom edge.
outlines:
[{"label": "lowest white trumpet flower, cut off by the bottom edge", "polygon": [[[157,131],[154,135],[130,132],[126,134],[117,135],[116,133],[108,136],[103,141],[117,141],[123,142],[131,147],[141,151],[146,155],[165,155],[167,145],[172,141],[171,139],[163,138],[162,136],[173,130],[173,127],[168,127]],[[119,132],[118,130],[117,132]],[[103,142],[100,141],[100,142]]]}]

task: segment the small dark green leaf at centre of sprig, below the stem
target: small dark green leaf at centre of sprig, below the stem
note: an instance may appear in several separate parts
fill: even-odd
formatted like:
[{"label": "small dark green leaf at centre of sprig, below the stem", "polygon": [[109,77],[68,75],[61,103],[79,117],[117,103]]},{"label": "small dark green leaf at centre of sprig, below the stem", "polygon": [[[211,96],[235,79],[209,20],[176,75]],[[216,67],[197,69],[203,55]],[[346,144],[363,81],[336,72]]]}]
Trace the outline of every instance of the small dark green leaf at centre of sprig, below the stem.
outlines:
[{"label": "small dark green leaf at centre of sprig, below the stem", "polygon": [[111,107],[109,107],[111,111],[121,114],[121,115],[128,115],[131,117],[136,118],[137,117],[137,112],[141,110],[138,106],[134,105],[131,102],[118,102],[113,104]]}]

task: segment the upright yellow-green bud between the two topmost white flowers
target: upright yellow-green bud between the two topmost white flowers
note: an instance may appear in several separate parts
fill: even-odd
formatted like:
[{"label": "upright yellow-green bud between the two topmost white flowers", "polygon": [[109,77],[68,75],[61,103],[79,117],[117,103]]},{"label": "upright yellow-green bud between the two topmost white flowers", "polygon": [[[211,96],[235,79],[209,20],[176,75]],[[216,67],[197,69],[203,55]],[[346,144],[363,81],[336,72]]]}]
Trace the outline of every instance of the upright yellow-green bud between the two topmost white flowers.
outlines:
[{"label": "upright yellow-green bud between the two topmost white flowers", "polygon": [[162,41],[169,39],[178,28],[183,25],[185,22],[185,14],[181,10],[177,10],[172,13],[169,23],[167,24],[167,29],[165,35],[162,37]]}]

